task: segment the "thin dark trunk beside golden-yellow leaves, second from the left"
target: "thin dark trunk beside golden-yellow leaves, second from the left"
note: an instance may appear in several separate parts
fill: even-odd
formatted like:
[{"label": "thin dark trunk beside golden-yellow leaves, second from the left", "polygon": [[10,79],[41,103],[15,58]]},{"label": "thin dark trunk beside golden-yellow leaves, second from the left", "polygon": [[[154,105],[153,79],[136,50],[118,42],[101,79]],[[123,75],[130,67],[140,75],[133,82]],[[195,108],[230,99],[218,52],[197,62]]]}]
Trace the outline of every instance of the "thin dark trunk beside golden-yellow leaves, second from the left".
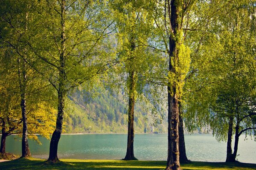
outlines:
[{"label": "thin dark trunk beside golden-yellow leaves, second from the left", "polygon": [[[29,142],[28,142],[28,123],[27,123],[27,113],[26,113],[26,65],[23,61],[20,65],[20,59],[18,58],[18,75],[19,75],[19,83],[20,83],[20,107],[21,107],[21,114],[22,114],[22,122],[23,122],[23,129],[22,129],[22,141],[21,141],[21,158],[31,156],[29,150]],[[21,69],[20,69],[21,68]]]}]

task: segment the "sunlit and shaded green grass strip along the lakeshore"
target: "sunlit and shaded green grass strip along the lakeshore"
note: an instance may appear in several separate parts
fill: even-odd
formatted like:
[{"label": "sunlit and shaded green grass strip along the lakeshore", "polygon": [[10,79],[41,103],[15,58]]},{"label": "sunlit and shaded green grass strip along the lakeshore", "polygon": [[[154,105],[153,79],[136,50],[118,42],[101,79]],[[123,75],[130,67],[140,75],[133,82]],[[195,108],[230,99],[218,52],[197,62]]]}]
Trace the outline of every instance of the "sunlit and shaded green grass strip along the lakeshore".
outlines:
[{"label": "sunlit and shaded green grass strip along the lakeshore", "polygon": [[[0,163],[0,170],[163,170],[166,161],[117,161],[61,159],[56,164],[43,159],[16,159]],[[224,162],[191,162],[183,170],[255,170],[256,164]]]}]

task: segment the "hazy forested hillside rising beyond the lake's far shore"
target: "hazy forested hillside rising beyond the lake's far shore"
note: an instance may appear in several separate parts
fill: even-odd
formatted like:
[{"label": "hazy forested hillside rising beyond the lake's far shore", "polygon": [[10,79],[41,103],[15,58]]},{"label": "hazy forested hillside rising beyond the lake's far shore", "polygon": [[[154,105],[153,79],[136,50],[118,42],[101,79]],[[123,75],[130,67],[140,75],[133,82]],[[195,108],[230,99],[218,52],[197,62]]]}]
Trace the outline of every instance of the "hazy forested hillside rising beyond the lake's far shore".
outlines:
[{"label": "hazy forested hillside rising beyond the lake's far shore", "polygon": [[[127,133],[127,102],[122,93],[99,88],[93,96],[76,90],[68,98],[66,133]],[[135,133],[167,131],[167,122],[160,115],[163,113],[151,114],[150,104],[138,101],[134,113]]]}]

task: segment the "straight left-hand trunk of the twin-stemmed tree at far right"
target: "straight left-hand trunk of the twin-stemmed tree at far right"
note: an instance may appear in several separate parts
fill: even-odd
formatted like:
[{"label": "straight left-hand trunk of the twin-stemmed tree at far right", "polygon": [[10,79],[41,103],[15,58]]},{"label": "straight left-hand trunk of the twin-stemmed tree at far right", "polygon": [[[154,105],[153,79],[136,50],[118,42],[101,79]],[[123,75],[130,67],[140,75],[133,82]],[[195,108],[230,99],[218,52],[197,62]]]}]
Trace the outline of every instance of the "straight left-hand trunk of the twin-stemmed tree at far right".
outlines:
[{"label": "straight left-hand trunk of the twin-stemmed tree at far right", "polygon": [[229,126],[227,134],[227,158],[226,162],[232,162],[232,133],[233,133],[233,116],[229,117]]}]

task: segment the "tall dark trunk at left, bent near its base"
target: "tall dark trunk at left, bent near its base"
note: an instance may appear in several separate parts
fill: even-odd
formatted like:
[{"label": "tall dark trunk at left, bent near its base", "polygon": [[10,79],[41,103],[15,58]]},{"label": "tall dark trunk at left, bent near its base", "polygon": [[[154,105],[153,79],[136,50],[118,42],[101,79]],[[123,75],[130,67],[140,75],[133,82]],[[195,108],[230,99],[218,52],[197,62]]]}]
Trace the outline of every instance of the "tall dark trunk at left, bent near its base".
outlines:
[{"label": "tall dark trunk at left, bent near its base", "polygon": [[51,142],[50,142],[50,150],[49,150],[49,158],[50,162],[58,162],[58,142],[61,138],[62,125],[63,125],[63,115],[64,115],[64,97],[66,96],[65,89],[65,59],[66,59],[66,34],[65,34],[65,6],[66,1],[61,0],[61,54],[59,59],[59,84],[58,84],[58,115],[56,120],[56,128],[52,134]]}]

